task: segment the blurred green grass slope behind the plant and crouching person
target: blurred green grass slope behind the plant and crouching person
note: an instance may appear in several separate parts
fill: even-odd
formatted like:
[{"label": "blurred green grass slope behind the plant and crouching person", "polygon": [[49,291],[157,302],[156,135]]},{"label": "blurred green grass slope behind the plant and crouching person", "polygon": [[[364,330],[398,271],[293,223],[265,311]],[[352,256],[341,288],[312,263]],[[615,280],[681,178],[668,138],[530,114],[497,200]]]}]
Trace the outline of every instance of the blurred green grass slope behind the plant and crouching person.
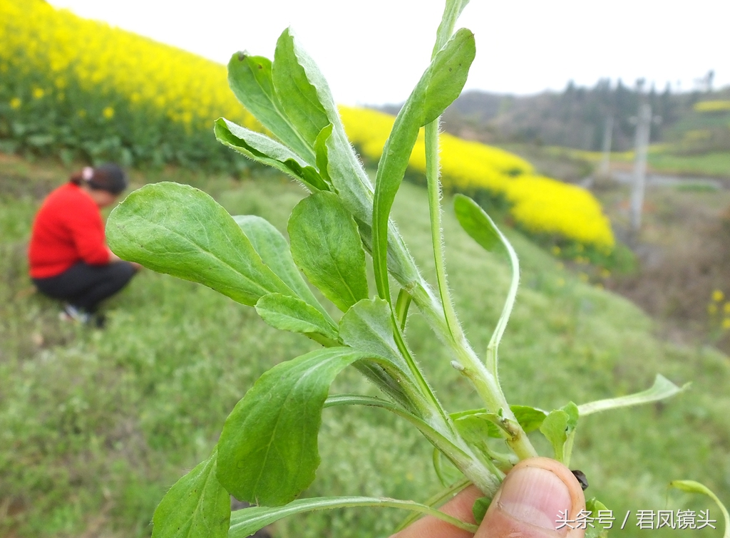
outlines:
[{"label": "blurred green grass slope behind the plant and crouching person", "polygon": [[[27,174],[29,182],[37,171],[0,166],[0,174],[15,166],[12,173]],[[47,169],[56,182],[64,180],[63,170]],[[230,212],[261,215],[281,230],[304,196],[269,173],[241,183],[185,172],[152,179],[200,185]],[[155,504],[207,456],[247,388],[273,364],[315,344],[274,331],[253,309],[203,286],[149,271],[110,301],[106,330],[61,323],[53,301],[28,295],[24,243],[35,204],[28,193],[0,199],[0,536],[145,537]],[[426,204],[423,189],[404,184],[394,216],[431,278]],[[483,350],[502,309],[507,266],[458,228],[449,207],[444,223],[456,306],[475,348]],[[588,475],[587,493],[621,517],[626,510],[667,507],[666,483],[677,478],[699,480],[730,500],[728,358],[656,339],[637,307],[581,283],[523,236],[508,234],[523,264],[501,351],[508,399],[551,409],[640,390],[656,372],[675,383],[691,380],[691,391],[666,403],[585,419],[573,467]],[[419,315],[411,316],[407,332],[447,407],[477,407],[475,393]],[[346,371],[331,392],[372,390]],[[322,465],[307,496],[421,500],[439,488],[431,447],[410,426],[364,408],[328,409],[323,419]],[[675,510],[709,506],[669,498]],[[318,513],[283,521],[275,535],[387,537],[402,517],[392,510]],[[644,536],[634,523],[616,534]]]}]

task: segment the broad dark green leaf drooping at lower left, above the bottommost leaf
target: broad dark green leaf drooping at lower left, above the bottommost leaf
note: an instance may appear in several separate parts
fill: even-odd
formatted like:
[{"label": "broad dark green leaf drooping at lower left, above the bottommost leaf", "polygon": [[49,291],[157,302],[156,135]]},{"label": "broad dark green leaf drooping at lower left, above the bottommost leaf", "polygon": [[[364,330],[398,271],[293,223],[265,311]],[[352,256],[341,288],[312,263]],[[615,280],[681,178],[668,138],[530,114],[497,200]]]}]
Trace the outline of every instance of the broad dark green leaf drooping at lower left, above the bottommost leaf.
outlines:
[{"label": "broad dark green leaf drooping at lower left, above the bottommost leaf", "polygon": [[218,440],[218,480],[237,499],[266,506],[291,502],[315,478],[317,435],[329,385],[367,358],[330,347],[277,364],[228,415]]}]

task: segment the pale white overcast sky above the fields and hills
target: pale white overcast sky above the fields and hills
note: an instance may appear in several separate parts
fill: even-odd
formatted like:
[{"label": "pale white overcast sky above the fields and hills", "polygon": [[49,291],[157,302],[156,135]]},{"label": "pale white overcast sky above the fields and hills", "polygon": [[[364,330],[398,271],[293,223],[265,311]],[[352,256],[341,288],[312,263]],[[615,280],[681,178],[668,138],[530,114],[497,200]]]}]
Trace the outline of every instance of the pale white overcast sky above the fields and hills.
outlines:
[{"label": "pale white overcast sky above the fields and hills", "polygon": [[[272,58],[292,26],[342,104],[404,101],[426,68],[443,9],[437,0],[50,0],[225,64],[247,50]],[[639,77],[683,91],[715,70],[730,85],[730,0],[472,0],[466,88],[561,90],[568,80]]]}]

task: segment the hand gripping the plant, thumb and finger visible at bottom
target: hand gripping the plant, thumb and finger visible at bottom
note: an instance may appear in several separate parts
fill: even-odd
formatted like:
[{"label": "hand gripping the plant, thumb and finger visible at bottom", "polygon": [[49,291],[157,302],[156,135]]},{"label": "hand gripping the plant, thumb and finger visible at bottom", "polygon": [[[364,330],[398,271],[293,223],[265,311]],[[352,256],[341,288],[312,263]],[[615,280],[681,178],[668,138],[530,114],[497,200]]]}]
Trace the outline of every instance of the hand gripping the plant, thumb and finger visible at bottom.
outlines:
[{"label": "hand gripping the plant, thumb and finger visible at bottom", "polygon": [[[439,510],[475,523],[472,505],[483,494],[469,486]],[[556,530],[558,512],[575,519],[585,510],[585,497],[572,472],[549,458],[520,461],[499,488],[474,538],[583,538],[583,529]],[[471,538],[445,521],[426,516],[391,538]]]}]

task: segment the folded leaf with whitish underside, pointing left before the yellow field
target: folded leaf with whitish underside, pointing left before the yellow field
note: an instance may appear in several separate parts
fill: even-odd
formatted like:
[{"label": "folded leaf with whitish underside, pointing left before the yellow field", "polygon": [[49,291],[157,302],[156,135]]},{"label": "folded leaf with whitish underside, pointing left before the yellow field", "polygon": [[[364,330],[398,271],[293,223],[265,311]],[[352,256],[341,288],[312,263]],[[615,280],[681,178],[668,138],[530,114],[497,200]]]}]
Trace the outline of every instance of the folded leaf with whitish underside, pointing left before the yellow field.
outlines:
[{"label": "folded leaf with whitish underside, pointing left before the yellow field", "polygon": [[299,155],[265,134],[251,131],[226,118],[218,118],[213,125],[218,142],[231,147],[248,158],[290,175],[310,191],[329,191],[329,185],[319,172],[305,163]]}]

